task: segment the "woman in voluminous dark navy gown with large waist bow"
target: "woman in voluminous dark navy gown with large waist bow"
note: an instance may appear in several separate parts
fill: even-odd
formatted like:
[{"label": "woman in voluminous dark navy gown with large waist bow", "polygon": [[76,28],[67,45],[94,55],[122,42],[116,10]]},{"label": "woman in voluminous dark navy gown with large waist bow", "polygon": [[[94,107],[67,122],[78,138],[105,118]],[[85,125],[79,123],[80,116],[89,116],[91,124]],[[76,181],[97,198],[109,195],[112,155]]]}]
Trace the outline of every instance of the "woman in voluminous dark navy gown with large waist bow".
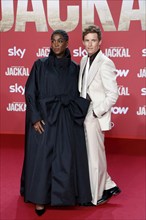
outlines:
[{"label": "woman in voluminous dark navy gown with large waist bow", "polygon": [[64,30],[52,33],[49,57],[35,61],[26,83],[20,191],[37,215],[48,204],[84,205],[92,199],[83,127],[89,101],[79,96],[79,66],[68,40]]}]

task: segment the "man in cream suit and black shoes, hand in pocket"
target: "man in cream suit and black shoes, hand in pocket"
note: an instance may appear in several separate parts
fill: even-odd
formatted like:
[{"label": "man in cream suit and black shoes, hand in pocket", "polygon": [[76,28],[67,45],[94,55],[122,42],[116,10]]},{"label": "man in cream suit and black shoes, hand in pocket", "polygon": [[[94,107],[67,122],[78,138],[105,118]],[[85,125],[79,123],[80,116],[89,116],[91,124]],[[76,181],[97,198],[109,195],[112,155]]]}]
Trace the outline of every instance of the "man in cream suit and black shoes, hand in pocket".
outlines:
[{"label": "man in cream suit and black shoes, hand in pocket", "polygon": [[118,99],[118,87],[115,65],[100,50],[100,28],[94,25],[85,28],[83,44],[88,56],[80,63],[79,91],[91,101],[84,127],[92,203],[99,205],[121,192],[107,173],[104,146],[104,132],[111,129],[111,107]]}]

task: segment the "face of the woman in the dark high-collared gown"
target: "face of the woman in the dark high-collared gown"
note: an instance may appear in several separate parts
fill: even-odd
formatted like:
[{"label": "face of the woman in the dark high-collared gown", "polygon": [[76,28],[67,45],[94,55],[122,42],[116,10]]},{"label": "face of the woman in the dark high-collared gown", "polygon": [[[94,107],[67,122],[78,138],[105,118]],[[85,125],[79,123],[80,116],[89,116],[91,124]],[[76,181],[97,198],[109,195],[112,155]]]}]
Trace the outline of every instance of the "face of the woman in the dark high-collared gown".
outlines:
[{"label": "face of the woman in the dark high-collared gown", "polygon": [[51,48],[58,58],[63,57],[68,41],[61,34],[54,34],[51,40]]}]

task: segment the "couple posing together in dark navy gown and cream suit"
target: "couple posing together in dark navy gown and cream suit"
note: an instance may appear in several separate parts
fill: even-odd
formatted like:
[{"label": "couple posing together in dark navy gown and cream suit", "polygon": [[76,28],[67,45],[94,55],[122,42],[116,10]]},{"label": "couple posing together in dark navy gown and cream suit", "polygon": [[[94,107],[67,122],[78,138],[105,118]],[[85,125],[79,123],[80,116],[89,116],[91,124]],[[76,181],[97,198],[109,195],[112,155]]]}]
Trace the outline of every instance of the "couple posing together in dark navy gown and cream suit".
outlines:
[{"label": "couple posing together in dark navy gown and cream suit", "polygon": [[82,34],[88,53],[71,59],[64,30],[26,82],[25,154],[20,193],[42,215],[46,205],[100,205],[121,192],[107,173],[104,132],[118,98],[114,63],[100,50],[101,30]]}]

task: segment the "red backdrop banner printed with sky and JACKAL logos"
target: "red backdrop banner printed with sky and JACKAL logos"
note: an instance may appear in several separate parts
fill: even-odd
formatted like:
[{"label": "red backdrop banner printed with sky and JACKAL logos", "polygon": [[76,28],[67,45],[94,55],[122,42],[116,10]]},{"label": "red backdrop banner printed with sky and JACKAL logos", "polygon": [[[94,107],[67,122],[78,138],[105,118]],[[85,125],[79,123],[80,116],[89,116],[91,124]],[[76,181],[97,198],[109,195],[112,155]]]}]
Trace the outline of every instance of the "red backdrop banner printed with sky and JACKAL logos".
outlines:
[{"label": "red backdrop banner printed with sky and JACKAL logos", "polygon": [[48,56],[52,31],[68,32],[79,63],[86,55],[82,29],[95,24],[103,33],[101,49],[117,68],[119,99],[106,135],[145,139],[145,0],[1,0],[0,13],[0,133],[24,134],[25,83],[33,62]]}]

